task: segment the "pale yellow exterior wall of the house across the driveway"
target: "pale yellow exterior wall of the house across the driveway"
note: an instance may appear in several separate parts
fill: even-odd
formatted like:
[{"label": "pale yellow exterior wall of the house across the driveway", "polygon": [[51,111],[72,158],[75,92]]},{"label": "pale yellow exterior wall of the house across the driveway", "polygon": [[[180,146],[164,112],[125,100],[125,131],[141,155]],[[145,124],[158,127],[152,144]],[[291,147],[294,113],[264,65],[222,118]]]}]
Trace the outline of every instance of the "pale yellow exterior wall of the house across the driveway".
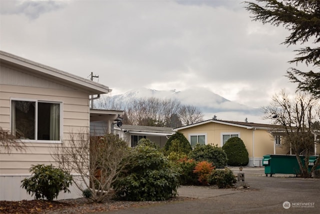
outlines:
[{"label": "pale yellow exterior wall of the house across the driveway", "polygon": [[[274,140],[267,130],[253,130],[225,124],[205,123],[179,130],[179,132],[183,133],[188,140],[190,140],[190,135],[206,134],[206,144],[220,147],[222,146],[222,134],[238,134],[248,151],[249,166],[262,166],[263,155],[273,154],[274,152]],[[282,147],[276,147],[275,150],[277,154],[286,154],[288,152],[288,149]]]}]

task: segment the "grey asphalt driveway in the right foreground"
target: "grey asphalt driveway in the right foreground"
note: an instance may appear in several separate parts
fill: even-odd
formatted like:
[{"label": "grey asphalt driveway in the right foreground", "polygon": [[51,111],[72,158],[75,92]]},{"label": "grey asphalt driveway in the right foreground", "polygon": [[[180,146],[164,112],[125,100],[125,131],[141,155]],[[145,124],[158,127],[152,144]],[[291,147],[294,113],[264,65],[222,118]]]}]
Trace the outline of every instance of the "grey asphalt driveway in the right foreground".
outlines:
[{"label": "grey asphalt driveway in the right foreground", "polygon": [[[231,168],[237,174],[238,168]],[[264,168],[243,168],[249,189],[214,189],[182,186],[180,196],[195,199],[144,207],[111,210],[107,214],[128,213],[319,213],[320,179],[294,175],[264,175]]]}]

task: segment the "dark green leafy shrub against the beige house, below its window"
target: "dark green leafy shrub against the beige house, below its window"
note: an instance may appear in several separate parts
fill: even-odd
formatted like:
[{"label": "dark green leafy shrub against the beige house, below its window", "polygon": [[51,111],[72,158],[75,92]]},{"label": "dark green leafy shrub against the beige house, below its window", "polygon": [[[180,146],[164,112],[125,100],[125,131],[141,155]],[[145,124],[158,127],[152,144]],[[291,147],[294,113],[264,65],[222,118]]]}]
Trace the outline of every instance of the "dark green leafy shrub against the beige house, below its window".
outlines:
[{"label": "dark green leafy shrub against the beige house, below its window", "polygon": [[32,165],[29,169],[32,177],[24,178],[21,187],[25,188],[27,193],[35,195],[36,199],[53,200],[60,191],[70,192],[68,189],[72,183],[72,176],[61,169],[54,168],[51,165]]}]

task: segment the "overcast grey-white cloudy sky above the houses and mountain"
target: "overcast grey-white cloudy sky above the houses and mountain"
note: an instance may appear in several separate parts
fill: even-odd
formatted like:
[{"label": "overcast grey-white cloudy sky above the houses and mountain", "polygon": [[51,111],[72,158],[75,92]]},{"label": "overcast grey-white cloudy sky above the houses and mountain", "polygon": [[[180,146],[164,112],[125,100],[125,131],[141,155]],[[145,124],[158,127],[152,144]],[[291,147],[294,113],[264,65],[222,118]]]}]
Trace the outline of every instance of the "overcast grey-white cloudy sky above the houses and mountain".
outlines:
[{"label": "overcast grey-white cloudy sky above the houses and mountain", "polygon": [[[292,50],[282,27],[223,1],[0,1],[0,49],[88,78],[112,95],[205,87],[261,107],[280,89]],[[95,79],[97,81],[97,79]]]}]

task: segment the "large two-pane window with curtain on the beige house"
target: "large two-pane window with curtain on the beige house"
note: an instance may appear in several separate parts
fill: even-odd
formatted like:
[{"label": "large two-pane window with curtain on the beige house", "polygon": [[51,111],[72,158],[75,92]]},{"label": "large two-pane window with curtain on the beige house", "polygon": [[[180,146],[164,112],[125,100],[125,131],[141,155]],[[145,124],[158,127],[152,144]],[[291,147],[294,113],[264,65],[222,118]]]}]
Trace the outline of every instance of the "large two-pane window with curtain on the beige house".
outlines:
[{"label": "large two-pane window with curtain on the beige house", "polygon": [[11,100],[11,130],[19,139],[60,140],[60,103]]}]

